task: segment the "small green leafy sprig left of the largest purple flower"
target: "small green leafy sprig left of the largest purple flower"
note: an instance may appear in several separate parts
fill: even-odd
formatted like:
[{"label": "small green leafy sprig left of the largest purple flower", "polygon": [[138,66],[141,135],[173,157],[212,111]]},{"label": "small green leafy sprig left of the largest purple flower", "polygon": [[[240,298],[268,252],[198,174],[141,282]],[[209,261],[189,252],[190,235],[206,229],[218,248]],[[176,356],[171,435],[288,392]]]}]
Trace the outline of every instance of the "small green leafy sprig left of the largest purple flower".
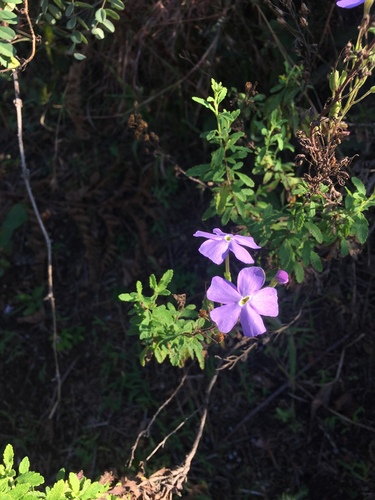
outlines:
[{"label": "small green leafy sprig left of the largest purple flower", "polygon": [[[119,299],[134,304],[130,311],[130,334],[139,335],[145,346],[140,359],[141,364],[155,356],[158,363],[169,358],[173,366],[184,366],[189,358],[196,358],[199,366],[204,367],[204,336],[202,328],[205,319],[199,317],[193,304],[186,305],[180,301],[176,309],[172,302],[158,304],[159,297],[171,295],[168,285],[173,277],[173,271],[168,270],[158,282],[155,276],[150,276],[149,285],[153,290],[151,297],[143,294],[140,281],[136,292],[122,293]],[[175,296],[178,299],[178,296]]]}]

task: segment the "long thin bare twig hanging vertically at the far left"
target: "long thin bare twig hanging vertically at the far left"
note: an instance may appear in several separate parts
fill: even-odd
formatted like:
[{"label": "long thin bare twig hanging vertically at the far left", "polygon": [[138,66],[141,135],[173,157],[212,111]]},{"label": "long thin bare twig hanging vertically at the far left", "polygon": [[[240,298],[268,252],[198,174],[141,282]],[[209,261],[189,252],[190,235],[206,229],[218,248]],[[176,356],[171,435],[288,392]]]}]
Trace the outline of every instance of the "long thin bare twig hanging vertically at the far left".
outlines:
[{"label": "long thin bare twig hanging vertically at the far left", "polygon": [[16,107],[16,113],[17,113],[18,148],[19,148],[20,158],[21,158],[22,177],[23,177],[23,180],[24,180],[24,183],[26,186],[27,194],[29,196],[31,205],[32,205],[33,210],[34,210],[36,220],[38,221],[39,227],[43,233],[44,240],[45,240],[46,247],[47,247],[48,294],[44,300],[48,300],[51,304],[52,334],[53,334],[52,347],[53,347],[53,354],[54,354],[54,360],[55,360],[55,378],[56,378],[56,389],[55,389],[55,395],[54,395],[55,401],[54,401],[54,404],[52,406],[52,409],[51,409],[49,417],[48,417],[49,419],[51,419],[53,417],[53,415],[55,414],[57,406],[61,400],[61,375],[60,375],[59,359],[58,359],[58,354],[57,354],[58,336],[57,336],[57,324],[56,324],[56,305],[55,305],[55,297],[53,295],[53,279],[52,279],[52,248],[51,248],[51,240],[50,240],[48,233],[47,233],[47,230],[43,224],[42,217],[40,215],[38,206],[36,204],[36,201],[35,201],[32,189],[31,189],[29,170],[27,169],[27,166],[26,166],[26,156],[25,156],[25,149],[24,149],[23,135],[22,135],[22,100],[20,97],[20,84],[19,84],[17,70],[13,71],[13,82],[14,82],[14,93],[15,93],[14,105]]}]

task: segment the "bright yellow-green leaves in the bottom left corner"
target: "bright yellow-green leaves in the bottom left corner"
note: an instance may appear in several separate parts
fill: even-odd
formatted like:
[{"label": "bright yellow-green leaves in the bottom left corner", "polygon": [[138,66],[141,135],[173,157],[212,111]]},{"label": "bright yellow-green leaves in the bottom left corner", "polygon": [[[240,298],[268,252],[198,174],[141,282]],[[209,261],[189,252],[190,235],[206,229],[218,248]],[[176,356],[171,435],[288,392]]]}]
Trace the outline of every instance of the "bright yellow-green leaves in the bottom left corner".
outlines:
[{"label": "bright yellow-green leaves in the bottom left corner", "polygon": [[[65,471],[62,469],[57,482],[47,486],[45,492],[36,488],[44,484],[44,478],[38,472],[30,471],[28,457],[21,460],[18,472],[14,467],[13,447],[8,444],[3,454],[3,464],[0,464],[0,498],[1,500],[32,500],[45,498],[46,500],[81,499],[92,500],[100,498],[108,491],[108,487],[98,482],[91,482],[84,476],[80,479],[71,472],[68,479],[64,479]],[[113,498],[112,495],[108,497]]]}]

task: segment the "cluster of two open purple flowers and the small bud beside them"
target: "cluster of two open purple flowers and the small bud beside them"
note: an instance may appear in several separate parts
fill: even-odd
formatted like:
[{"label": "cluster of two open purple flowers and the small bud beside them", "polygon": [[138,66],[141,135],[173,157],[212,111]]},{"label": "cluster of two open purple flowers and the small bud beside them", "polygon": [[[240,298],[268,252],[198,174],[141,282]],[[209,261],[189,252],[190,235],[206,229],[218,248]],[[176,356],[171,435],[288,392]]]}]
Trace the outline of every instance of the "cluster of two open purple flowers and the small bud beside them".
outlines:
[{"label": "cluster of two open purple flowers and the small bud beside them", "polygon": [[[215,264],[222,264],[229,252],[233,252],[241,262],[253,264],[254,259],[243,246],[261,248],[251,236],[228,234],[217,228],[213,234],[197,231],[194,236],[207,238],[199,247],[199,252]],[[280,270],[272,281],[284,285],[289,281],[288,273]],[[266,331],[262,316],[277,316],[279,305],[275,288],[262,288],[264,282],[265,273],[260,267],[242,269],[238,273],[237,287],[219,276],[212,278],[207,298],[221,306],[213,309],[210,317],[222,333],[229,333],[238,320],[246,337],[255,337]]]}]

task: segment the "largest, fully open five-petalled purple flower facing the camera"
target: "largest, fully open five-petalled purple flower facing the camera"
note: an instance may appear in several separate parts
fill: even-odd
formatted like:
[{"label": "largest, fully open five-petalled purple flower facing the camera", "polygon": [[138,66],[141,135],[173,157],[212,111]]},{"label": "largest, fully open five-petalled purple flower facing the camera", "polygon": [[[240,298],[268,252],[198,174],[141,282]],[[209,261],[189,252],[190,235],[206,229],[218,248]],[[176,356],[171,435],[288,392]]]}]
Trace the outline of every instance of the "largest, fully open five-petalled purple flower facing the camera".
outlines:
[{"label": "largest, fully open five-petalled purple flower facing the camera", "polygon": [[246,267],[238,273],[237,288],[227,280],[215,276],[207,290],[207,298],[224,304],[210,312],[219,330],[228,333],[241,321],[246,337],[255,337],[266,331],[262,316],[277,316],[279,305],[275,288],[262,288],[265,274],[260,267]]}]

